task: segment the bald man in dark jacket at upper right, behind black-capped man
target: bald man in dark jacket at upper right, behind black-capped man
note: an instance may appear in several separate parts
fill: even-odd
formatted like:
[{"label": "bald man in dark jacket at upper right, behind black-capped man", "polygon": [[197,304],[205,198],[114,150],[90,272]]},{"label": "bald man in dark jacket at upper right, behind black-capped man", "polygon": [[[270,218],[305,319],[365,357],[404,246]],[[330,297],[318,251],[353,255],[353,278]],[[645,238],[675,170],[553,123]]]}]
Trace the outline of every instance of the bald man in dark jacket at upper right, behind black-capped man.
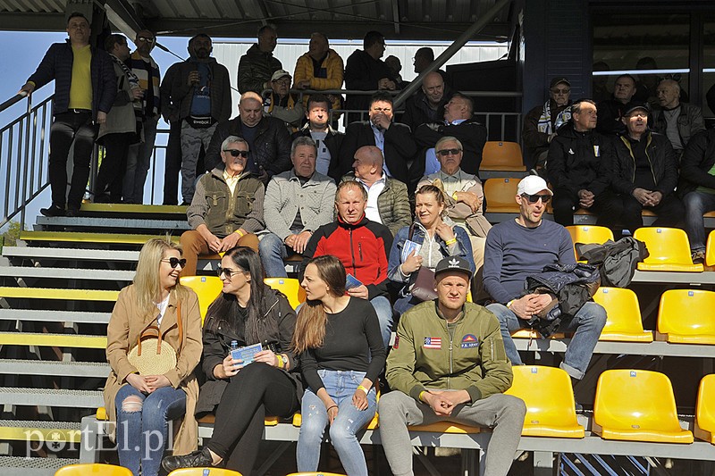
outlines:
[{"label": "bald man in dark jacket at upper right, behind black-capped man", "polygon": [[660,108],[653,113],[653,130],[668,136],[679,157],[687,142],[705,130],[701,109],[680,102],[680,85],[673,79],[663,79],[656,89]]}]

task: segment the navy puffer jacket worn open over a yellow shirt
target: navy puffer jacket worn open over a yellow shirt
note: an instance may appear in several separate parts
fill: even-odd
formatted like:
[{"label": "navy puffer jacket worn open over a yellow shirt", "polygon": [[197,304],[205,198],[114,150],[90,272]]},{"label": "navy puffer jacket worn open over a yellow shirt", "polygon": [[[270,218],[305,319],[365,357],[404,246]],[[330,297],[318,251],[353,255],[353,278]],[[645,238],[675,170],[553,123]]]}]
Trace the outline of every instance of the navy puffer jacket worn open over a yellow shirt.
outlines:
[{"label": "navy puffer jacket worn open over a yellow shirt", "polygon": [[[92,62],[92,118],[97,119],[97,112],[109,113],[117,94],[117,77],[114,63],[104,50],[90,46]],[[35,89],[42,88],[55,79],[55,99],[52,101],[53,115],[66,113],[70,107],[70,85],[72,80],[72,46],[70,40],[54,43],[49,47],[38,69],[28,81],[35,83]]]}]

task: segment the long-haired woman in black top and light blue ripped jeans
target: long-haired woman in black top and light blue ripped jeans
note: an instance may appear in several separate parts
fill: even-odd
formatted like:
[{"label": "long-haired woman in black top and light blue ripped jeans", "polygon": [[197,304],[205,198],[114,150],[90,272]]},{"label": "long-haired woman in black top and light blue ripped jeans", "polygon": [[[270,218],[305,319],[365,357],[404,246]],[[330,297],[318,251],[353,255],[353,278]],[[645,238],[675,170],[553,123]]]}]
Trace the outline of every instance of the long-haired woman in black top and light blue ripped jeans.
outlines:
[{"label": "long-haired woman in black top and light blue ripped jeans", "polygon": [[307,302],[300,308],[293,348],[309,388],[301,405],[298,471],[317,471],[330,423],[332,446],[345,472],[367,476],[355,434],[374,417],[374,381],[385,363],[377,314],[366,299],[345,294],[345,268],[335,256],[312,259],[300,285]]}]

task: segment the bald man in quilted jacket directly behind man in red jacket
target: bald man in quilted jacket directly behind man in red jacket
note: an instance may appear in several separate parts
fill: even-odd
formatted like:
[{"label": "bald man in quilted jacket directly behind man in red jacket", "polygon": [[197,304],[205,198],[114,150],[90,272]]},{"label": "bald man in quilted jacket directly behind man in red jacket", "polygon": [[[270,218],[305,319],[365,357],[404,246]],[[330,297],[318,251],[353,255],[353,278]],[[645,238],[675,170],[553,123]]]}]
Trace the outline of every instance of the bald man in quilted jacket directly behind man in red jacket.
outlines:
[{"label": "bald man in quilted jacket directly behind man in red jacket", "polygon": [[367,192],[367,220],[386,226],[392,236],[412,223],[408,187],[383,171],[383,153],[376,146],[362,146],[355,152],[353,171],[342,178],[357,180]]}]

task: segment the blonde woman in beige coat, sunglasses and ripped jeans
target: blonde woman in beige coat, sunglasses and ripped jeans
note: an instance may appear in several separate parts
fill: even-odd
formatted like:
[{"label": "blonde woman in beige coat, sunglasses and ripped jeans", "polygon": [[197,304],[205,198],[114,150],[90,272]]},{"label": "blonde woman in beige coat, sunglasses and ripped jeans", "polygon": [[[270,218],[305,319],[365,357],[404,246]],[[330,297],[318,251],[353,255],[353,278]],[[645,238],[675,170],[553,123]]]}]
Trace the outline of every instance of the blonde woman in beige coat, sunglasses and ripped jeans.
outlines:
[{"label": "blonde woman in beige coat, sunglasses and ripped jeans", "polygon": [[[170,428],[174,454],[189,453],[198,443],[193,371],[203,348],[201,316],[196,294],[179,284],[185,263],[179,246],[162,238],[147,241],[134,284],[122,289],[107,328],[112,372],[105,385],[105,406],[116,421],[119,462],[135,476],[157,474]],[[127,355],[152,325],[176,351],[176,366],[163,375],[140,375]]]}]

